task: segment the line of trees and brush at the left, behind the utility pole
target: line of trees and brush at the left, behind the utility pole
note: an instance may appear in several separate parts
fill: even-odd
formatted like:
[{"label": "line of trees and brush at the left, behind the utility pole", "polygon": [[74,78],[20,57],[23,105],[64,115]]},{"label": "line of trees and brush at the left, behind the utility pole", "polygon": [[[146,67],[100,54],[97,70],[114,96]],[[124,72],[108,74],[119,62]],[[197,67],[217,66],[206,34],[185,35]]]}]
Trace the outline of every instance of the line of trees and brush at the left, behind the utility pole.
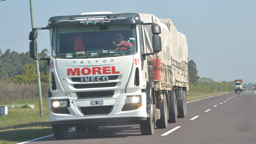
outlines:
[{"label": "line of trees and brush at the left, behind the utility pole", "polygon": [[[47,49],[38,53],[38,57],[48,57]],[[39,61],[42,96],[48,96],[47,61]],[[2,102],[36,100],[38,90],[36,83],[36,61],[29,52],[18,53],[7,49],[4,53],[0,49],[0,105]]]}]

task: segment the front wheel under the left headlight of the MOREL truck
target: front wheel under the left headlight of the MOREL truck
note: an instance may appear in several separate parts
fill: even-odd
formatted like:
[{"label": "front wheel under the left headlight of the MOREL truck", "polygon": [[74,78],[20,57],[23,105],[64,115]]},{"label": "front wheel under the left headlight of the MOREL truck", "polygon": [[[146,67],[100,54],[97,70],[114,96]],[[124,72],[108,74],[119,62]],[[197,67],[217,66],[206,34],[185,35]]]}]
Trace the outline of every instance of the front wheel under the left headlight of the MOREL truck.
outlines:
[{"label": "front wheel under the left headlight of the MOREL truck", "polygon": [[52,130],[56,139],[68,137],[68,125],[52,125]]}]

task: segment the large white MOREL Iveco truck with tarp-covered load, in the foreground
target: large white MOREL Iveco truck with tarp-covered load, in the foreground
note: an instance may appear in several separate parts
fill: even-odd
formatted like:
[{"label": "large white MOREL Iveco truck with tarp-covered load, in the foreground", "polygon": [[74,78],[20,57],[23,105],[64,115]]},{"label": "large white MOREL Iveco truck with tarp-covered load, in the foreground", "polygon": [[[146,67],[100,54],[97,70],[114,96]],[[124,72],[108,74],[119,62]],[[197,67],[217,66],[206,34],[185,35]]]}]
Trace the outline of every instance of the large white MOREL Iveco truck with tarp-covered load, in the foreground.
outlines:
[{"label": "large white MOREL Iveco truck with tarp-covered load, in the foreground", "polygon": [[[50,30],[50,58],[37,57],[41,29]],[[132,46],[110,48],[120,33]],[[66,138],[69,127],[85,132],[127,124],[151,135],[155,124],[166,128],[187,115],[188,46],[170,19],[112,12],[57,16],[34,28],[29,40],[30,57],[50,64],[55,138]]]}]

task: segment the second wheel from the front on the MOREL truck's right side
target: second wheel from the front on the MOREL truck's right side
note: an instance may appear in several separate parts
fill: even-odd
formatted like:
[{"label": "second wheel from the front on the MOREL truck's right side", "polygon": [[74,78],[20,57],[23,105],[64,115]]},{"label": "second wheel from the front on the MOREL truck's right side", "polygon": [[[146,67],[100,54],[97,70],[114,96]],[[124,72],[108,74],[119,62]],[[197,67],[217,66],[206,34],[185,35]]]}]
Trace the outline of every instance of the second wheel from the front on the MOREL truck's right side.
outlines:
[{"label": "second wheel from the front on the MOREL truck's right side", "polygon": [[156,109],[160,109],[160,119],[156,120],[157,128],[167,128],[168,118],[167,118],[167,100],[166,95],[163,94],[164,101],[156,103]]}]

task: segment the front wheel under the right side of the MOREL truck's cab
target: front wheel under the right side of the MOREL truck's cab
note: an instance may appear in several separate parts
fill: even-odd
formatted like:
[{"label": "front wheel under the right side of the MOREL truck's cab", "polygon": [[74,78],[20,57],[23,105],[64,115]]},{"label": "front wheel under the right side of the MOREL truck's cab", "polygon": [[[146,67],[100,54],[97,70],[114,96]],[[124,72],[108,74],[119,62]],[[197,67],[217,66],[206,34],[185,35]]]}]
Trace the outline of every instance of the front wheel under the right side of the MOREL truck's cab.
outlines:
[{"label": "front wheel under the right side of the MOREL truck's cab", "polygon": [[153,104],[150,103],[149,117],[147,117],[147,120],[140,122],[140,132],[142,135],[154,134],[154,128],[155,128],[155,122],[153,118],[154,112],[156,112],[156,110],[153,110]]}]

